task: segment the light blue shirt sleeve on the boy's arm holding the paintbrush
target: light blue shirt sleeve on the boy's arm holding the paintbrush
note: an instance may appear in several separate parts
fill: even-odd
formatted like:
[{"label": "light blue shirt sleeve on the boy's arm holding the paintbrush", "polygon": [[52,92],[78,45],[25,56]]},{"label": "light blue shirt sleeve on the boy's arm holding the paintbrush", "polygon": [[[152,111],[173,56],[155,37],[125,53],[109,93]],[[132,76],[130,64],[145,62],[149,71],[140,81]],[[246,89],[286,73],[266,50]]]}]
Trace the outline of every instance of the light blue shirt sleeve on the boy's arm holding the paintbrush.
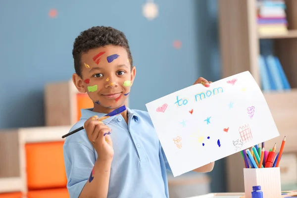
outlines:
[{"label": "light blue shirt sleeve on the boy's arm holding the paintbrush", "polygon": [[64,163],[70,198],[78,198],[87,183],[96,161],[94,150],[80,143],[65,143]]}]

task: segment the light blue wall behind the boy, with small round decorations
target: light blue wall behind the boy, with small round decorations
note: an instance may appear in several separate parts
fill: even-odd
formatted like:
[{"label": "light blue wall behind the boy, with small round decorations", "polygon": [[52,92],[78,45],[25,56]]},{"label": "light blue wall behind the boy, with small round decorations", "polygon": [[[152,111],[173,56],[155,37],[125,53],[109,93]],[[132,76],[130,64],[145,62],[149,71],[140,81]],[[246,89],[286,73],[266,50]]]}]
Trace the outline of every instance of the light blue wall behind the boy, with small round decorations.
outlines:
[{"label": "light blue wall behind the boy, with small round decorations", "polygon": [[[192,85],[220,78],[217,0],[154,0],[159,17],[142,15],[146,0],[2,0],[0,2],[0,128],[44,125],[46,83],[74,72],[74,39],[87,28],[112,26],[130,42],[137,67],[132,108]],[[49,18],[49,9],[58,10]],[[174,49],[174,40],[182,48]],[[213,173],[220,181],[222,166]],[[214,181],[216,182],[216,181]],[[213,184],[213,191],[223,191]]]}]

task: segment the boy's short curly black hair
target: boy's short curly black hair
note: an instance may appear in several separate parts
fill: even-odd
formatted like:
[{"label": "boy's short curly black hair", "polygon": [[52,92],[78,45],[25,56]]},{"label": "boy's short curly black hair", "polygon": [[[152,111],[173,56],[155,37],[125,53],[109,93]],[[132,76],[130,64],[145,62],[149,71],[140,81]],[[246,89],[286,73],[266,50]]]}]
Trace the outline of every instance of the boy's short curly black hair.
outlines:
[{"label": "boy's short curly black hair", "polygon": [[83,53],[107,45],[125,48],[132,68],[133,59],[125,34],[112,27],[96,26],[81,32],[74,41],[72,55],[75,72],[81,77],[81,56]]}]

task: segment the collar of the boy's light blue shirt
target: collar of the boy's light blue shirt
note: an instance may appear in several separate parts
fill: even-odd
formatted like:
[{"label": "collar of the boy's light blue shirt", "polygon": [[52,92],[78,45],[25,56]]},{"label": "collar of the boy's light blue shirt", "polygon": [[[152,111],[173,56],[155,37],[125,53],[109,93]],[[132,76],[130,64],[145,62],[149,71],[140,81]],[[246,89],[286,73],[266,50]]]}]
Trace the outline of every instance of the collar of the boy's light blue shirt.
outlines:
[{"label": "collar of the boy's light blue shirt", "polygon": [[[136,122],[139,121],[139,115],[136,112],[134,112],[130,108],[127,108],[127,112],[128,112],[128,119],[134,118]],[[93,111],[93,108],[81,109],[81,114],[82,114],[81,119],[86,119],[86,120],[92,116],[95,116],[95,115],[97,115],[98,117],[102,117],[102,116],[106,115],[105,113],[98,113],[98,112]],[[108,124],[111,120],[113,120],[117,116],[122,116],[122,115],[111,116],[109,118],[102,120],[102,122],[104,124]],[[132,118],[130,118],[130,117],[132,117]]]}]

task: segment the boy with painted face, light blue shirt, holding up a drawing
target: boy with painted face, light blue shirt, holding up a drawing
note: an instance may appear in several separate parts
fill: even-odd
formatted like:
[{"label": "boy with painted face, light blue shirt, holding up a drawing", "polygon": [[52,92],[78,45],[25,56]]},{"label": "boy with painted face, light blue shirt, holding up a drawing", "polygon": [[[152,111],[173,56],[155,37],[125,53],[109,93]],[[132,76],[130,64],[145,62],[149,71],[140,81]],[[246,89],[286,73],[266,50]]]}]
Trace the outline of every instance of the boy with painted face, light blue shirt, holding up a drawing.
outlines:
[{"label": "boy with painted face, light blue shirt, holding up a drawing", "polygon": [[[87,92],[94,108],[82,116],[64,143],[67,188],[71,198],[168,198],[170,170],[148,112],[127,108],[99,120],[126,104],[136,68],[125,35],[111,27],[92,27],[74,42],[79,92]],[[195,84],[208,81],[199,78]],[[209,172],[214,163],[195,171]]]}]

